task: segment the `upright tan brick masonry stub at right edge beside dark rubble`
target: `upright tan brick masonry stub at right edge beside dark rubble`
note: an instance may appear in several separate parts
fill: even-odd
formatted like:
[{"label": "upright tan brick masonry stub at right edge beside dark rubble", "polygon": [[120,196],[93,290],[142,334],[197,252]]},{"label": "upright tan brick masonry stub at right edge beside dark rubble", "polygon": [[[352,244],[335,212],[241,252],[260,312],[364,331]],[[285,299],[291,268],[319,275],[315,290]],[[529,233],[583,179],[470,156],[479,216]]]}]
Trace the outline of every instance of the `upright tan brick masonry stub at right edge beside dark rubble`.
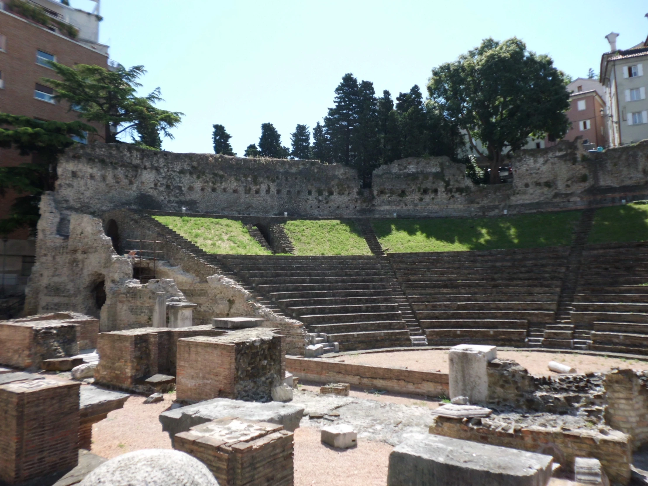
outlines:
[{"label": "upright tan brick masonry stub at right edge beside dark rubble", "polygon": [[648,374],[632,369],[614,370],[605,375],[608,406],[605,421],[632,436],[632,449],[648,441]]}]

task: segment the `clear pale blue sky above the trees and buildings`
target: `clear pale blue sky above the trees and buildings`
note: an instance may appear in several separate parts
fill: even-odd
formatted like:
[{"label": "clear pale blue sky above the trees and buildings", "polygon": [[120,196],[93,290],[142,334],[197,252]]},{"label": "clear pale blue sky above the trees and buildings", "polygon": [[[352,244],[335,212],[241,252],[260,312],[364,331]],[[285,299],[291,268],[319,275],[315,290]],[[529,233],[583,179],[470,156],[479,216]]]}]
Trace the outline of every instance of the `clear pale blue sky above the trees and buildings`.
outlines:
[{"label": "clear pale blue sky above the trees and buildings", "polygon": [[[87,8],[86,0],[72,0]],[[432,67],[492,36],[518,36],[573,77],[599,70],[604,36],[619,49],[645,40],[645,0],[103,0],[100,41],[126,67],[148,70],[161,108],[185,113],[173,152],[212,152],[223,124],[242,156],[272,122],[290,145],[295,124],[313,127],[345,73],[396,97],[424,87]]]}]

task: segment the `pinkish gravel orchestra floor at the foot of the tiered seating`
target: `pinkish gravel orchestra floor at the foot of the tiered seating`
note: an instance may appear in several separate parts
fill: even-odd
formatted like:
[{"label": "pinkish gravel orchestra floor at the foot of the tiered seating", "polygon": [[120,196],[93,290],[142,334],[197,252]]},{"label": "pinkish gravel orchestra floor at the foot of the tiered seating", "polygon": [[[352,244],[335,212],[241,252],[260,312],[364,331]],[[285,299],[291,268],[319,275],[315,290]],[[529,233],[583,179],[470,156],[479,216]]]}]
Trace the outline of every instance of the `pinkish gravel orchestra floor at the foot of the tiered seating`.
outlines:
[{"label": "pinkish gravel orchestra floor at the foot of the tiered seating", "polygon": [[[574,367],[579,373],[606,371],[613,367],[648,369],[648,361],[628,360],[625,358],[607,358],[588,354],[570,354],[547,351],[499,351],[498,358],[515,360],[535,376],[555,375],[549,371],[547,364],[558,361]],[[448,373],[448,351],[443,349],[425,349],[421,351],[394,351],[392,353],[358,353],[327,358],[327,360],[349,364],[371,366],[404,367],[417,371],[441,371]]]}]

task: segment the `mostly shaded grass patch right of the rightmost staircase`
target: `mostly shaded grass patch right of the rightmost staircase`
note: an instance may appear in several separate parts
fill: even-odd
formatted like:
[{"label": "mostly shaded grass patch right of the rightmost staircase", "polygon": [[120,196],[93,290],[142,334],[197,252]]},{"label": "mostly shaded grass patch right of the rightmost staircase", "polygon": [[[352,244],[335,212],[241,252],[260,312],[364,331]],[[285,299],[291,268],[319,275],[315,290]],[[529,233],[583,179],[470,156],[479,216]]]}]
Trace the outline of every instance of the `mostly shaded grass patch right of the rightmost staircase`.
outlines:
[{"label": "mostly shaded grass patch right of the rightmost staircase", "polygon": [[648,205],[627,204],[603,207],[594,214],[588,243],[648,240]]}]

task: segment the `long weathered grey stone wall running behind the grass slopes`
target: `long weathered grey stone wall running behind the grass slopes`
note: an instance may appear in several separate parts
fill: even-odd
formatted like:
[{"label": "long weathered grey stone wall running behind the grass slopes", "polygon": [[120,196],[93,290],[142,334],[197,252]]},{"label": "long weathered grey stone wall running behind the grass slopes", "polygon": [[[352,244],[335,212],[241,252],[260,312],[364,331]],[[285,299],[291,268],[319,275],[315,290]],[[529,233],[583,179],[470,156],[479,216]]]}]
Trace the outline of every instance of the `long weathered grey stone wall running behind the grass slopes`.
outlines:
[{"label": "long weathered grey stone wall running behind the grass slopes", "polygon": [[475,216],[620,203],[648,194],[648,142],[588,154],[564,142],[511,157],[513,183],[476,186],[447,157],[378,168],[373,189],[355,170],[318,161],[154,152],[130,145],[68,150],[58,165],[64,213],[113,209],[301,217]]}]

